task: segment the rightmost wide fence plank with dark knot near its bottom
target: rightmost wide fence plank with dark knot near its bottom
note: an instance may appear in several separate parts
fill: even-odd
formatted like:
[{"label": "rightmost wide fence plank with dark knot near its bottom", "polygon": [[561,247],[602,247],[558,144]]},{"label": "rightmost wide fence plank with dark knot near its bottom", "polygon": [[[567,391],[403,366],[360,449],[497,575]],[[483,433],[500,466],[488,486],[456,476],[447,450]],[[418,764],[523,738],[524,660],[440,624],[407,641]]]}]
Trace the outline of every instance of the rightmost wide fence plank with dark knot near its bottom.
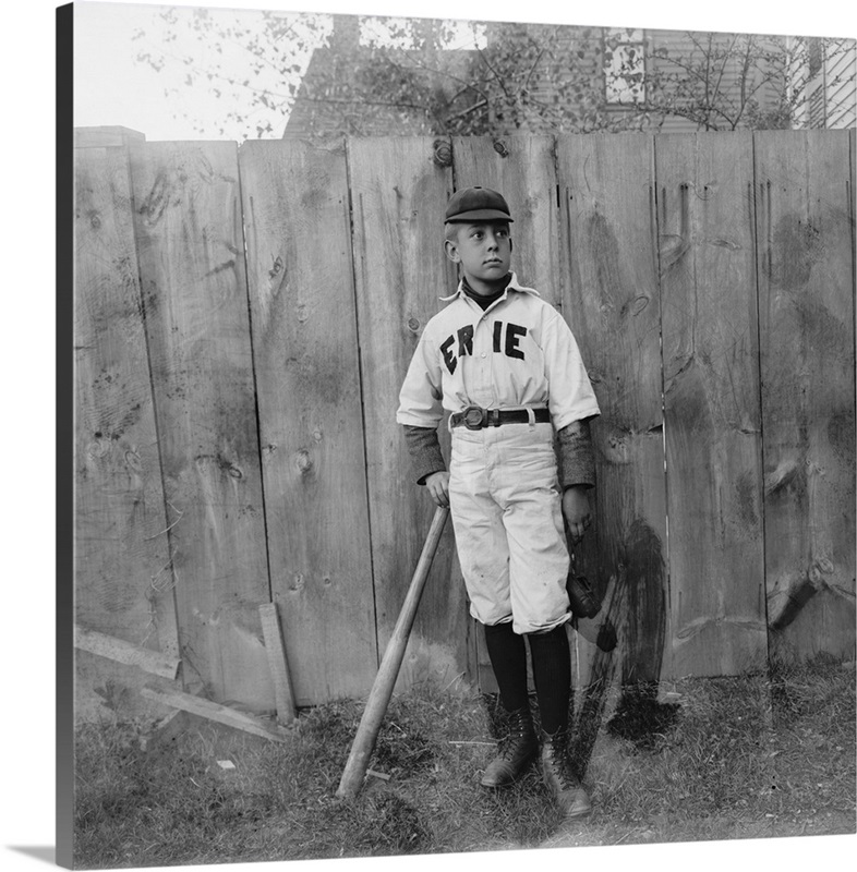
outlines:
[{"label": "rightmost wide fence plank with dark knot near its bottom", "polygon": [[771,649],[774,657],[854,656],[849,136],[755,141]]}]

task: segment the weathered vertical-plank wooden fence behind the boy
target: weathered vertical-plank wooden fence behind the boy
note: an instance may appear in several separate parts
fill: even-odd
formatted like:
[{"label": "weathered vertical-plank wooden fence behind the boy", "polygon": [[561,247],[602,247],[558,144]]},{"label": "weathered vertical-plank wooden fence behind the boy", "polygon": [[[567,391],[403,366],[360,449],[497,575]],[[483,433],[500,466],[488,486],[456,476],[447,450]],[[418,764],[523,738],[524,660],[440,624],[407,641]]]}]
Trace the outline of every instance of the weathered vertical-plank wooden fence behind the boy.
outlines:
[{"label": "weathered vertical-plank wooden fence behind the boy", "polygon": [[[81,628],[269,708],[275,603],[299,704],[367,691],[433,511],[398,390],[483,184],[603,411],[577,562],[623,680],[854,656],[854,131],[76,145]],[[400,685],[458,675],[447,530]]]}]

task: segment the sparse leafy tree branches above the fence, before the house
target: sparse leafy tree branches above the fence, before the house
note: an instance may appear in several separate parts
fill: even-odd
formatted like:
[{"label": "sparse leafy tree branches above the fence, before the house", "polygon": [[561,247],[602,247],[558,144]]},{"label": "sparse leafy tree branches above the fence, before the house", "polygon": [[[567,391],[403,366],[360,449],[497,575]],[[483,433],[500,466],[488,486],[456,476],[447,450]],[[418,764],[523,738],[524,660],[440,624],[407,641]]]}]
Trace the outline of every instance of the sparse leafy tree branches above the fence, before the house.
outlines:
[{"label": "sparse leafy tree branches above the fence, before the house", "polygon": [[[474,23],[462,34],[460,22],[405,19],[367,20],[383,31],[373,41],[359,39],[357,17],[336,17],[350,39],[323,15],[168,9],[136,34],[137,59],[182,70],[182,86],[206,85],[222,101],[220,135],[226,122],[246,136],[281,135],[293,111],[310,136],[498,136],[654,129],[669,118],[699,130],[796,126],[819,49],[781,37],[532,24]],[[830,60],[853,44],[821,48]],[[213,132],[201,120],[196,129]]]}]

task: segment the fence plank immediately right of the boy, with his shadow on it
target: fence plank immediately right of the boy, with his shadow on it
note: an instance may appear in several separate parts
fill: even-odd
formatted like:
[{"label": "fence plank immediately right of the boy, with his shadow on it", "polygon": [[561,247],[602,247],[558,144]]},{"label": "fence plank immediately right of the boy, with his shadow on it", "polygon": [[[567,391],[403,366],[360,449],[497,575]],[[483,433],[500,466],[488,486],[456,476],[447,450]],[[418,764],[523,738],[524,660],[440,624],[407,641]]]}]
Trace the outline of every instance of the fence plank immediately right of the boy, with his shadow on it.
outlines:
[{"label": "fence plank immediately right of the boy, with his shadow on it", "polygon": [[652,162],[649,137],[557,140],[563,313],[602,411],[592,425],[595,530],[578,549],[578,569],[609,594],[599,620],[619,632],[615,655],[596,656],[577,638],[580,680],[593,686],[619,661],[624,682],[656,681],[668,635]]}]

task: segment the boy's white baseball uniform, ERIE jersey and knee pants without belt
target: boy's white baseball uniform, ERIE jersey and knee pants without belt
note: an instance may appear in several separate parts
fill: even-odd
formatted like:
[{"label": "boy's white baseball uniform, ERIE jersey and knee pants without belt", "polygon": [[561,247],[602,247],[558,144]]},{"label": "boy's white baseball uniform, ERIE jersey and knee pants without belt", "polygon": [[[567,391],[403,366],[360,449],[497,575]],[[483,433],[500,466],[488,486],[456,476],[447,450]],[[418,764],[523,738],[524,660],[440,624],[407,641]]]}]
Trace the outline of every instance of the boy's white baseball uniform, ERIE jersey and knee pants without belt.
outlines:
[{"label": "boy's white baseball uniform, ERIE jersey and knee pants without belt", "polygon": [[[599,414],[571,330],[512,274],[485,311],[459,283],[425,326],[399,396],[400,424],[436,428],[448,412],[547,407],[553,428]],[[451,439],[449,507],[470,614],[545,632],[570,616],[551,424],[508,424]]]}]

